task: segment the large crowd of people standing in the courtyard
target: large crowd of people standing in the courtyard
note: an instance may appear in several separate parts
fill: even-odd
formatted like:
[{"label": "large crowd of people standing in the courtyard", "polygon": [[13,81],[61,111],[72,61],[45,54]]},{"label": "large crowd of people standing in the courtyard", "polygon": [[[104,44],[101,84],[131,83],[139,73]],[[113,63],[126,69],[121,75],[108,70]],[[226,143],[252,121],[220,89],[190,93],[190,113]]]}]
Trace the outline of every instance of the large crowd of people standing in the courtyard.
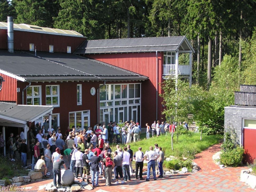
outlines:
[{"label": "large crowd of people standing in the courtyard", "polygon": [[[120,126],[122,125],[122,126]],[[147,126],[147,138],[149,138],[150,127]],[[168,126],[168,130],[165,128]],[[159,136],[171,130],[169,124],[155,121],[152,128],[152,136]],[[174,126],[175,127],[175,126]],[[47,131],[44,126],[41,128],[36,124],[34,128],[28,131],[29,149],[31,152],[31,169],[33,171],[43,172],[44,177],[49,175],[53,177],[55,186],[60,185],[60,167],[70,169],[75,179],[87,181],[92,186],[98,186],[100,175],[105,180],[105,185],[112,183],[112,171],[116,179],[115,183],[124,183],[131,180],[134,175],[132,162],[135,161],[135,179],[142,178],[143,161],[147,161],[148,174],[146,181],[150,178],[150,171],[153,171],[153,179],[156,179],[155,168],[159,172],[159,178],[162,177],[162,162],[164,161],[164,152],[162,148],[155,144],[155,148],[149,147],[149,151],[144,154],[142,148],[133,153],[129,143],[140,140],[141,127],[139,123],[132,120],[124,123],[110,122],[96,123],[94,127],[81,129],[80,127],[68,127],[65,134],[62,134],[60,127],[57,130],[53,127]],[[24,132],[20,134],[20,137]],[[132,141],[133,140],[133,141]],[[9,155],[13,159],[13,134],[8,141]],[[109,143],[116,143],[116,150],[112,151]],[[125,145],[123,149],[119,144]],[[27,144],[25,139],[21,139],[18,150],[20,152],[23,167],[27,168]],[[113,152],[113,153],[112,153]],[[64,157],[69,161],[69,167],[66,167]],[[14,159],[13,159],[14,160]],[[51,164],[52,163],[52,164]],[[52,166],[52,167],[50,167]],[[52,168],[52,172],[49,170]],[[138,175],[139,173],[139,175]],[[58,175],[58,181],[56,181]],[[121,181],[120,181],[121,179]]]}]

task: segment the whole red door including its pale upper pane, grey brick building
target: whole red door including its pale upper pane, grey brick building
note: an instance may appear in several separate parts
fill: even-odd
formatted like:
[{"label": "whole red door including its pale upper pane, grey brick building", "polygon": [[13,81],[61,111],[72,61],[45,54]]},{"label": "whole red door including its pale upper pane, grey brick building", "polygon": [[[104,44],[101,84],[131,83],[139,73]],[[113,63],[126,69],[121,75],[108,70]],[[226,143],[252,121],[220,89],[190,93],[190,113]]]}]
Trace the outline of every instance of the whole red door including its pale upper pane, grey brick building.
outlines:
[{"label": "whole red door including its pale upper pane, grey brick building", "polygon": [[244,164],[252,164],[256,159],[256,120],[244,120],[243,128],[243,147],[244,147]]}]

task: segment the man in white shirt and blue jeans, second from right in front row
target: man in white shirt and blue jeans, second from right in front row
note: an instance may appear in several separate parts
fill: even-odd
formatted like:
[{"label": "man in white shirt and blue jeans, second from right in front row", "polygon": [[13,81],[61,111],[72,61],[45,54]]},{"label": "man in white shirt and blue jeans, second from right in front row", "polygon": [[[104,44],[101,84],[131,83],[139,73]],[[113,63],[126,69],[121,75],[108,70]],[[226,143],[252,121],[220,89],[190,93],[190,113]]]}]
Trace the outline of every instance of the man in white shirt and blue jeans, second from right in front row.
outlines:
[{"label": "man in white shirt and blue jeans, second from right in front row", "polygon": [[155,160],[159,158],[159,154],[153,151],[153,147],[149,147],[149,151],[147,151],[144,155],[145,160],[148,162],[148,171],[147,171],[147,179],[146,181],[149,181],[150,178],[150,169],[152,167],[153,171],[153,178],[156,180],[155,175]]}]

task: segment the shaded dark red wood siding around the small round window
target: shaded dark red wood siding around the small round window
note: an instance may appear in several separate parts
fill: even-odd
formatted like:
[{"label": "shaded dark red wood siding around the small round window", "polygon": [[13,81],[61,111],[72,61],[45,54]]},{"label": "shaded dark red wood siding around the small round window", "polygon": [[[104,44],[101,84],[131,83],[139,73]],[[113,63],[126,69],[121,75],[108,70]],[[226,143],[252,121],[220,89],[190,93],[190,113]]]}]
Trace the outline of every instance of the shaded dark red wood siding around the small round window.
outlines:
[{"label": "shaded dark red wood siding around the small round window", "polygon": [[[17,84],[20,90],[28,85],[20,81]],[[82,105],[77,105],[77,84],[82,84]],[[69,126],[69,112],[72,111],[90,110],[90,126],[94,126],[97,122],[97,92],[92,96],[90,89],[94,87],[97,91],[100,82],[32,82],[31,85],[41,85],[42,105],[46,105],[46,85],[59,85],[60,107],[55,107],[52,113],[59,113],[62,133],[65,133]],[[24,95],[24,104],[26,104],[26,91]],[[22,104],[22,92],[18,93],[18,104]]]}]

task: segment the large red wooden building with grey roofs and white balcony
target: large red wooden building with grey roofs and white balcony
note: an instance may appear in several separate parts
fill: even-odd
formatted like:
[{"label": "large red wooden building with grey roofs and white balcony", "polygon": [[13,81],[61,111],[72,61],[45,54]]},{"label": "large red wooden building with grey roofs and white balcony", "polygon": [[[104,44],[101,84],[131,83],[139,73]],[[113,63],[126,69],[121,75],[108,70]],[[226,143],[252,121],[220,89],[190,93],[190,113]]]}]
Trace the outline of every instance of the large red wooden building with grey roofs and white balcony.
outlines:
[{"label": "large red wooden building with grey roofs and white balcony", "polygon": [[8,28],[0,22],[0,101],[53,105],[50,117],[36,122],[50,118],[63,132],[103,121],[133,119],[143,127],[164,119],[160,84],[166,76],[191,82],[194,50],[185,36],[87,41],[75,31]]}]

